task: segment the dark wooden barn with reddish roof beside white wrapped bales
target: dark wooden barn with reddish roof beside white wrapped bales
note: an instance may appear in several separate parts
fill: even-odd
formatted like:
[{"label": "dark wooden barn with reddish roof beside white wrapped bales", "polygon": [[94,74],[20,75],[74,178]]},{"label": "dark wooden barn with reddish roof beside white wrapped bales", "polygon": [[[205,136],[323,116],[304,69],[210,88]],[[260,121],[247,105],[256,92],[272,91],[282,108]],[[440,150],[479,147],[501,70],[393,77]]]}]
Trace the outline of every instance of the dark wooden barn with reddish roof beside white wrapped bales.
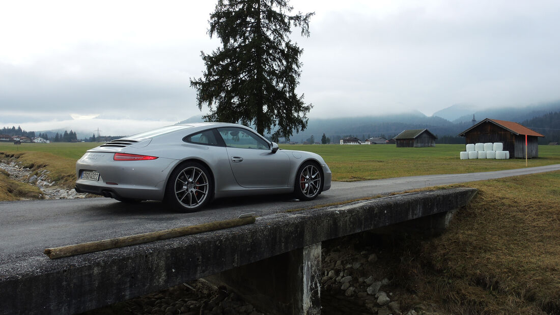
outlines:
[{"label": "dark wooden barn with reddish roof beside white wrapped bales", "polygon": [[539,157],[538,137],[544,135],[512,121],[484,119],[459,134],[465,143],[501,142],[510,158],[525,158],[525,135],[528,142],[528,158]]}]

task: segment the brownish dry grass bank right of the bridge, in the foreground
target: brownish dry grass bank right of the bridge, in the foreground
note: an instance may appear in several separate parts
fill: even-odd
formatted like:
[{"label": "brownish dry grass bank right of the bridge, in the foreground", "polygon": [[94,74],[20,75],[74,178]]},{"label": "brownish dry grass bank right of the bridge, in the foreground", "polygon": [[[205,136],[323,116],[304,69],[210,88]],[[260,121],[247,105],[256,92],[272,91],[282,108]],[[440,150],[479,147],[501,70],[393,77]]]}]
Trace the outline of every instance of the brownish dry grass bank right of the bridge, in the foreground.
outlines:
[{"label": "brownish dry grass bank right of the bridge, in the foreground", "polygon": [[453,313],[560,313],[560,172],[468,186],[447,232],[403,258],[409,288]]}]

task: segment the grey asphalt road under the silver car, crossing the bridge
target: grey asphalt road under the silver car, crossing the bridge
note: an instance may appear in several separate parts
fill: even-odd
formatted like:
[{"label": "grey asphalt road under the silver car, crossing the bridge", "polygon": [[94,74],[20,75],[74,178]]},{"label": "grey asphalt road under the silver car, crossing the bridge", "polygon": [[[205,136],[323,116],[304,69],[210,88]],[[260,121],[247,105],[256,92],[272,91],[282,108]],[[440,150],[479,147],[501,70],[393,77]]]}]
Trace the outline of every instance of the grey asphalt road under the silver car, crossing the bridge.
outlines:
[{"label": "grey asphalt road under the silver car, crossing the bridge", "polygon": [[313,201],[291,196],[259,196],[216,200],[197,213],[175,213],[156,201],[125,204],[106,198],[0,202],[0,273],[26,261],[44,259],[44,248],[129,236],[162,229],[258,216],[388,194],[430,186],[458,184],[508,176],[560,170],[560,164],[497,172],[388,178],[360,182],[333,182]]}]

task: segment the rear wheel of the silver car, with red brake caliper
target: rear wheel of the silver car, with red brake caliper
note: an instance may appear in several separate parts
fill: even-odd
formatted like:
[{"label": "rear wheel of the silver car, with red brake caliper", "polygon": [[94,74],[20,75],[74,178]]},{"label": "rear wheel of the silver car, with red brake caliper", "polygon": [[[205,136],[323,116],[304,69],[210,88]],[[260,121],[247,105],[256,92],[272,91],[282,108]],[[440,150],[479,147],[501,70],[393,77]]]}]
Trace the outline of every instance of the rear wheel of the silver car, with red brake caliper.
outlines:
[{"label": "rear wheel of the silver car, with red brake caliper", "polygon": [[165,202],[179,212],[194,212],[212,198],[213,179],[208,168],[198,162],[184,162],[171,172],[165,187]]}]

